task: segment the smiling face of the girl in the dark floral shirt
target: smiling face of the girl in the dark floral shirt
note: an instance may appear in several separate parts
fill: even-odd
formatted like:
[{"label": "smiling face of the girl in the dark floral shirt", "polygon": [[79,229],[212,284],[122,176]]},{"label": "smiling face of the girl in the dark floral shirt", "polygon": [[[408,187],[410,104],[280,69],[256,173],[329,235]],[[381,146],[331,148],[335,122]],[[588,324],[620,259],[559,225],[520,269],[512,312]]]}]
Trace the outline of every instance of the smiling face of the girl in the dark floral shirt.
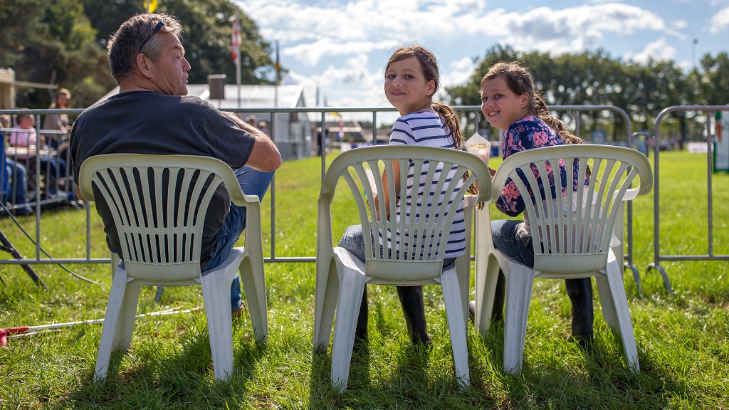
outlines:
[{"label": "smiling face of the girl in the dark floral shirt", "polygon": [[483,82],[481,87],[481,112],[491,126],[507,131],[529,112],[529,94],[516,95],[509,89],[504,76]]}]

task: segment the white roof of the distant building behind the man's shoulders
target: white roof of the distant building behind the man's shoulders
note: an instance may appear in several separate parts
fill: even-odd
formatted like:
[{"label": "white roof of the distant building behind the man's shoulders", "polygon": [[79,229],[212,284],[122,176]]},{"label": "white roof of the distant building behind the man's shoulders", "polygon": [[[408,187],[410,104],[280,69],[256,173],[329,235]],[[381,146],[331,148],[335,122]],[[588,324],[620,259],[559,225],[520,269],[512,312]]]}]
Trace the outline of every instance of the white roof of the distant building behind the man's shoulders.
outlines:
[{"label": "white roof of the distant building behind the man's shoulders", "polygon": [[[303,85],[279,85],[276,101],[274,85],[241,85],[241,108],[305,107]],[[119,93],[119,87],[109,91],[101,100]],[[238,85],[225,85],[225,99],[211,100],[207,84],[188,84],[187,95],[210,101],[214,107],[238,108]],[[99,101],[101,101],[99,100]]]}]

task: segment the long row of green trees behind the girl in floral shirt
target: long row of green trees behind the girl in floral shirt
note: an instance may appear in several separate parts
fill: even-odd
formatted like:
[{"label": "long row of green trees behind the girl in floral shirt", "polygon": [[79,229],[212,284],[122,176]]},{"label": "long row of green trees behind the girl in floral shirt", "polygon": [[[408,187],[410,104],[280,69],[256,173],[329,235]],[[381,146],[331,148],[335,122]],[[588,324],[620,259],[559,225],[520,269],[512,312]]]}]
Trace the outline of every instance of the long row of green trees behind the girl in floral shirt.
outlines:
[{"label": "long row of green trees behind the girl in floral shirt", "polygon": [[[539,93],[550,105],[607,104],[625,110],[634,131],[652,131],[661,109],[673,105],[729,104],[729,55],[706,54],[699,66],[685,71],[674,61],[646,64],[612,58],[604,50],[550,56],[495,45],[486,51],[469,82],[447,90],[453,104],[479,105],[480,81],[488,68],[499,61],[520,61],[531,69]],[[572,113],[553,113],[574,121]],[[698,139],[703,121],[693,112],[677,112],[666,119],[666,127],[680,141]],[[581,130],[603,128],[608,139],[619,140],[624,125],[604,113],[587,112],[580,119]],[[486,120],[480,123],[487,127]]]}]

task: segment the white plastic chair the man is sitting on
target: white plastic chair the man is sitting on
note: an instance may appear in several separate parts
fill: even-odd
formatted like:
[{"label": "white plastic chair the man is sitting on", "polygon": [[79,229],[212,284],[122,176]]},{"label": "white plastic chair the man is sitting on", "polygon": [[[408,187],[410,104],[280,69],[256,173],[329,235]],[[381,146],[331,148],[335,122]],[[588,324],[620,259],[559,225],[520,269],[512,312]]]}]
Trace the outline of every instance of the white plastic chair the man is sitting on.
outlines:
[{"label": "white plastic chair the man is sitting on", "polygon": [[[226,163],[190,155],[98,155],[84,161],[79,182],[84,198],[93,200],[96,191],[109,204],[125,265],[112,280],[95,379],[106,378],[113,349],[130,347],[141,285],[203,286],[215,378],[227,379],[233,371],[230,284],[238,269],[254,337],[268,336],[258,197],[243,194]],[[221,182],[233,204],[246,206],[246,245],[200,276],[205,215]]]}]

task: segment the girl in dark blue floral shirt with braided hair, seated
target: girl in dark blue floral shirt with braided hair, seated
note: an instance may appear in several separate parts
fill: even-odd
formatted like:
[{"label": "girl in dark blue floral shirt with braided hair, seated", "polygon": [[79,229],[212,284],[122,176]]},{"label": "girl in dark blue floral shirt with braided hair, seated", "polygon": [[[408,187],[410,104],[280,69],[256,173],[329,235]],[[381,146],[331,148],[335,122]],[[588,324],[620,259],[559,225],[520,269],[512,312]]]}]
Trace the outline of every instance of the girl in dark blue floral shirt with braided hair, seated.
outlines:
[{"label": "girl in dark blue floral shirt with braided hair, seated", "polygon": [[[533,148],[551,147],[562,144],[580,144],[582,139],[569,133],[564,124],[552,117],[545,101],[534,93],[534,80],[529,69],[519,63],[497,63],[491,66],[481,80],[481,112],[492,126],[504,130],[502,147],[504,159],[516,152],[531,150]],[[559,163],[562,187],[567,186],[564,160]],[[535,176],[538,175],[536,166],[531,166]],[[572,186],[576,191],[580,183],[577,177],[577,168],[573,167]],[[526,182],[526,177],[517,171]],[[555,193],[555,175],[551,166],[547,166],[547,180],[553,198]],[[589,177],[583,182],[589,184]],[[538,189],[540,200],[546,198],[545,187],[541,179]],[[525,185],[528,185],[525,184]],[[534,192],[527,193],[529,200],[536,202]],[[566,195],[563,188],[562,195]],[[510,217],[521,214],[526,209],[524,198],[512,179],[507,179],[501,196],[496,201],[496,208]],[[504,252],[510,258],[523,265],[534,266],[534,247],[532,244],[529,219],[495,220],[491,223],[494,247]],[[538,241],[538,240],[537,240]],[[580,344],[588,344],[593,339],[593,302],[592,285],[590,278],[565,279],[567,294],[572,301],[572,337]],[[496,286],[492,320],[502,320],[504,306],[504,290],[506,280],[503,272],[499,272]],[[475,311],[475,304],[469,306]]]}]

